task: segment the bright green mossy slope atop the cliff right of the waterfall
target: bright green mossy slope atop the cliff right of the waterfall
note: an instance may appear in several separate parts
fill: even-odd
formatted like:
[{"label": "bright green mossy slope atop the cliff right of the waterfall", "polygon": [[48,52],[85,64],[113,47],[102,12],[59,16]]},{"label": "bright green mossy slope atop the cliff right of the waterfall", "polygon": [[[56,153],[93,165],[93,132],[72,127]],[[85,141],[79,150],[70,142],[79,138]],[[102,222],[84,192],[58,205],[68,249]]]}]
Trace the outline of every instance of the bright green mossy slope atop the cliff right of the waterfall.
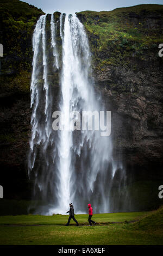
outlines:
[{"label": "bright green mossy slope atop the cliff right of the waterfall", "polygon": [[[112,11],[82,11],[79,15],[83,15],[97,69],[106,65],[128,65],[126,57],[130,56],[144,60],[146,56],[151,58],[152,52],[158,54],[163,34],[160,28],[149,27],[149,17],[162,19],[163,5],[142,4]],[[109,52],[109,58],[102,60],[100,55],[103,52],[106,55]]]}]

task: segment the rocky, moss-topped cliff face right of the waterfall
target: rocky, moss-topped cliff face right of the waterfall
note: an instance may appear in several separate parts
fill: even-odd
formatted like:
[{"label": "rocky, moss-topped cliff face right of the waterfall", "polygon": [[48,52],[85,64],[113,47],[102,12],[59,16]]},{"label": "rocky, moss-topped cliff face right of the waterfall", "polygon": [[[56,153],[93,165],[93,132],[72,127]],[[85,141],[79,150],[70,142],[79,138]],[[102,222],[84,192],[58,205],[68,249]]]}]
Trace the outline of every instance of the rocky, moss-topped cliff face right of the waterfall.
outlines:
[{"label": "rocky, moss-topped cliff face right of the waterfall", "polygon": [[89,35],[97,90],[112,112],[115,156],[132,175],[161,179],[162,5],[77,15]]}]

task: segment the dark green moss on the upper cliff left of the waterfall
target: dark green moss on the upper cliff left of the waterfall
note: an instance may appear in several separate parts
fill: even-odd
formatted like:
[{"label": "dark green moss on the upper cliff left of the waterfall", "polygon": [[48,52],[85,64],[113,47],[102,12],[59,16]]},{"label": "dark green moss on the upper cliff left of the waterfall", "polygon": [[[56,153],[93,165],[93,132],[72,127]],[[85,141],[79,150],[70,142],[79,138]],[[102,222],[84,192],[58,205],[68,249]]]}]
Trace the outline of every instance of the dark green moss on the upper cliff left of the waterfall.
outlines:
[{"label": "dark green moss on the upper cliff left of the waterfall", "polygon": [[[18,0],[1,1],[0,26],[3,30],[0,41],[4,48],[1,68],[5,70],[5,74],[9,69],[20,76],[22,71],[31,71],[32,35],[34,25],[42,14],[44,13],[41,9]],[[18,87],[21,87],[20,84]],[[24,90],[27,90],[26,81],[24,87]]]}]

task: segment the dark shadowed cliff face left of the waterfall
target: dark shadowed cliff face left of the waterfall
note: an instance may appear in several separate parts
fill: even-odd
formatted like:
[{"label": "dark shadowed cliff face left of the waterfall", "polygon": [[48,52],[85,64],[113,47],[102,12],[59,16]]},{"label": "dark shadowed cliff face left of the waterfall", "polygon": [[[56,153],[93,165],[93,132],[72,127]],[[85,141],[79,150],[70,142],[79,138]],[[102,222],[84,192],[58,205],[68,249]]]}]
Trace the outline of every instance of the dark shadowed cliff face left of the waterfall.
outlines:
[{"label": "dark shadowed cliff face left of the waterfall", "polygon": [[0,3],[0,183],[4,198],[30,198],[27,152],[30,137],[32,35],[41,9],[18,1]]}]

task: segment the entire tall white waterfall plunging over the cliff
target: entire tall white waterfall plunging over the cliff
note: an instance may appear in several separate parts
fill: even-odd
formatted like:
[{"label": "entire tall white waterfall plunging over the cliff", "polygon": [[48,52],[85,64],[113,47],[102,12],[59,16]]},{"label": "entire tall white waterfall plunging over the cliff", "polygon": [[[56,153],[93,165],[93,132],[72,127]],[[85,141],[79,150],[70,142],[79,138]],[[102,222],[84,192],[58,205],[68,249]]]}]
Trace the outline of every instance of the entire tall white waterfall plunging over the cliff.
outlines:
[{"label": "entire tall white waterfall plunging over the cliff", "polygon": [[[86,212],[89,202],[95,212],[109,212],[118,209],[111,201],[110,191],[116,170],[120,172],[122,168],[112,157],[110,136],[103,137],[101,130],[89,130],[87,126],[73,130],[71,113],[76,113],[76,121],[80,119],[79,113],[94,113],[96,126],[98,114],[105,108],[93,89],[91,54],[82,23],[76,15],[65,14],[61,14],[59,21],[54,22],[51,16],[51,47],[47,46],[46,15],[37,21],[33,35],[28,167],[29,175],[35,174],[34,198],[38,194],[39,199],[46,200],[45,208],[40,210],[42,214],[65,214],[70,202],[76,213]],[[57,29],[62,42],[60,52]],[[53,68],[49,63],[53,63]],[[52,113],[57,109],[52,81],[48,78],[56,70],[60,78],[58,110],[62,127],[58,131],[52,129]],[[84,123],[84,115],[82,118]],[[121,176],[125,175],[121,172]]]}]

